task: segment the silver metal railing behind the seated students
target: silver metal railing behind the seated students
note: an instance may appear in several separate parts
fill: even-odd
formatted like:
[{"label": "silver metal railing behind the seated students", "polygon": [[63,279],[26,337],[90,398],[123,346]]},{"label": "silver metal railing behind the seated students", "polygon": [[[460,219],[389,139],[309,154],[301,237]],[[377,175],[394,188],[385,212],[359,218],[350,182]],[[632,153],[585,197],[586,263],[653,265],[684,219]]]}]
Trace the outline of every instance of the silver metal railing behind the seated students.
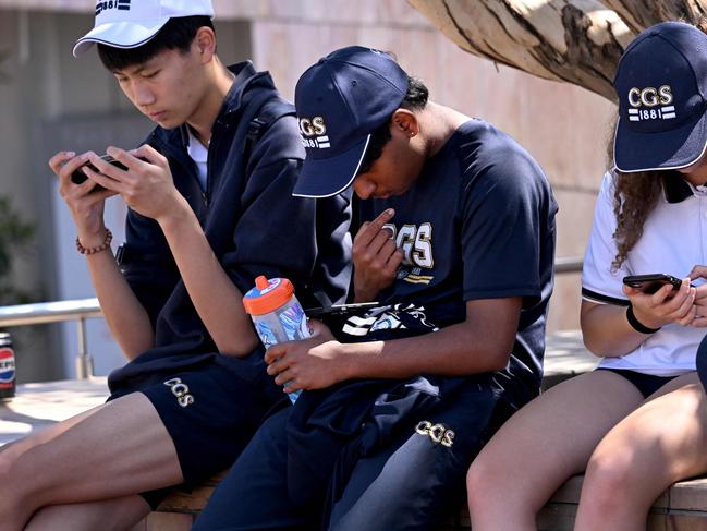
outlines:
[{"label": "silver metal railing behind the seated students", "polygon": [[[562,257],[554,261],[554,273],[578,273],[582,270],[581,257]],[[86,319],[102,317],[98,299],[76,299],[71,301],[37,302],[0,306],[0,327],[26,326],[46,323],[76,322],[78,352],[76,353],[76,377],[88,378],[94,374],[94,359],[86,346]]]}]

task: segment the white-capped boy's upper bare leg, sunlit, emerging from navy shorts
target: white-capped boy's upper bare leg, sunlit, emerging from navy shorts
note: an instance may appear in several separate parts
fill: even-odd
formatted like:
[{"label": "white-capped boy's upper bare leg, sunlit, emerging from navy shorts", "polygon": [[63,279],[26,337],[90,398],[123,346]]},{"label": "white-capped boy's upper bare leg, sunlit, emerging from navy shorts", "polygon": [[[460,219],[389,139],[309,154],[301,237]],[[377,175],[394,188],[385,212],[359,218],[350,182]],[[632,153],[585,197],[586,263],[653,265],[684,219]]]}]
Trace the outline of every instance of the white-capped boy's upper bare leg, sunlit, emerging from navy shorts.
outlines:
[{"label": "white-capped boy's upper bare leg, sunlit, emerging from navy shorts", "polygon": [[49,505],[181,483],[176,450],[151,402],[134,393],[48,427],[0,452],[0,521],[22,530]]}]

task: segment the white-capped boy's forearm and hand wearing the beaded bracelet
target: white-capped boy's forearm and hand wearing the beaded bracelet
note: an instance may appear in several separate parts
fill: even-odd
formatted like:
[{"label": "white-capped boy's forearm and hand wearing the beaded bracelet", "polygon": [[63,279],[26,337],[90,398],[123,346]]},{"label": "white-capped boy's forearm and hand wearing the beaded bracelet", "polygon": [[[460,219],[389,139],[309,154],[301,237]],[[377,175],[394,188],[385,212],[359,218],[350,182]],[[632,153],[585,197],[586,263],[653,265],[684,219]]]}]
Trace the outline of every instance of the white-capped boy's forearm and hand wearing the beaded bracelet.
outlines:
[{"label": "white-capped boy's forearm and hand wearing the beaded bracelet", "polygon": [[[100,245],[106,239],[103,205],[114,195],[109,190],[92,191],[90,179],[73,184],[71,173],[83,165],[90,154],[74,157],[73,153],[59,153],[49,160],[59,177],[60,193],[66,202],[84,248]],[[110,250],[86,256],[96,297],[113,337],[129,359],[149,349],[155,343],[153,327],[147,312],[120,273]]]}]

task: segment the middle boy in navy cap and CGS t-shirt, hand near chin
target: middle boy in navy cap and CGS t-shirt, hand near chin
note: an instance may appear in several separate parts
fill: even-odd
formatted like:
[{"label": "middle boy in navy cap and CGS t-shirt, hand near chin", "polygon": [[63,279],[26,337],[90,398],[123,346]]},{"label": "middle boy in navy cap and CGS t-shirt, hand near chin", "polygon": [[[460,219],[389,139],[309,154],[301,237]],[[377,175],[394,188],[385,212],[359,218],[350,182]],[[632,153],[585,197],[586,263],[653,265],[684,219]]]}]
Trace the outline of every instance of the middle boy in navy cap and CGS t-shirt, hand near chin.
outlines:
[{"label": "middle boy in navy cap and CGS t-shirt, hand near chin", "polygon": [[538,394],[550,186],[505,134],[427,96],[362,47],[300,79],[295,194],[353,186],[355,298],[379,307],[268,350],[275,382],[304,393],[258,430],[194,529],[431,529],[483,442]]}]

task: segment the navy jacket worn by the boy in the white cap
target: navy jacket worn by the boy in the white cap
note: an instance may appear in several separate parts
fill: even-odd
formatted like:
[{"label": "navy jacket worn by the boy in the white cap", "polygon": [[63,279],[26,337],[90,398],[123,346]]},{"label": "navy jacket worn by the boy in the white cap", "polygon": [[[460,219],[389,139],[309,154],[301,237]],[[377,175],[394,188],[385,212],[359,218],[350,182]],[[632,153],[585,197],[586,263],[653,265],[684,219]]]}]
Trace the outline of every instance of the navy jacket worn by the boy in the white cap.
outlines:
[{"label": "navy jacket worn by the boy in the white cap", "polygon": [[[305,156],[294,116],[271,123],[246,149],[252,120],[285,102],[270,75],[256,72],[249,61],[230,70],[236,79],[211,130],[206,191],[187,153],[186,125],[158,126],[145,143],[169,160],[176,189],[242,293],[254,286],[256,276],[265,275],[289,278],[305,307],[320,305],[321,295],[343,302],[351,277],[351,196],[318,202],[292,196]],[[121,270],[155,328],[155,347],[111,373],[112,391],[206,360],[239,365],[232,357],[215,355],[217,347],[192,304],[157,221],[129,210],[121,254]],[[258,347],[249,358],[259,361],[261,355]]]}]

